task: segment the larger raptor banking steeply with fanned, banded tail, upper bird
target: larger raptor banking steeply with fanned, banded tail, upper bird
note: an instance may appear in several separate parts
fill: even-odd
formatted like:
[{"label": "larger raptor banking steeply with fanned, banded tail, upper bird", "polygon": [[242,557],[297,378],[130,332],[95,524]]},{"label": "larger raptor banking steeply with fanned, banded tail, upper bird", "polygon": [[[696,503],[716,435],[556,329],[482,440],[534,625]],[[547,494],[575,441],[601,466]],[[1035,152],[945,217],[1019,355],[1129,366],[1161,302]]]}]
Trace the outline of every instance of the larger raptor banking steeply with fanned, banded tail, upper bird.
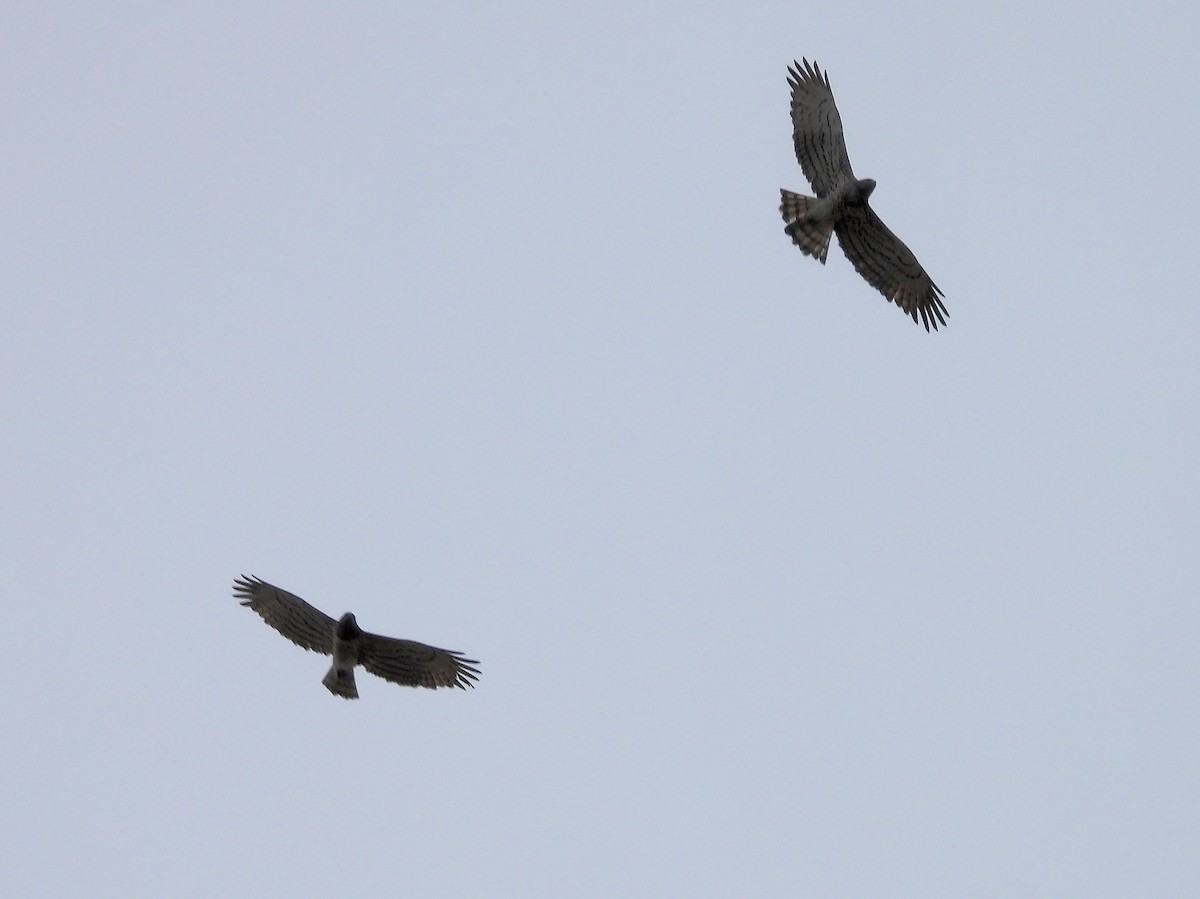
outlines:
[{"label": "larger raptor banking steeply with fanned, banded tail, upper bird", "polygon": [[806,256],[824,264],[829,238],[838,242],[854,269],[928,331],[946,324],[944,295],[917,257],[868,205],[875,190],[870,178],[858,179],[850,167],[841,116],[833,101],[829,73],[805,59],[787,70],[792,86],[792,138],[796,158],[816,197],[780,191],[779,211],[785,232]]}]

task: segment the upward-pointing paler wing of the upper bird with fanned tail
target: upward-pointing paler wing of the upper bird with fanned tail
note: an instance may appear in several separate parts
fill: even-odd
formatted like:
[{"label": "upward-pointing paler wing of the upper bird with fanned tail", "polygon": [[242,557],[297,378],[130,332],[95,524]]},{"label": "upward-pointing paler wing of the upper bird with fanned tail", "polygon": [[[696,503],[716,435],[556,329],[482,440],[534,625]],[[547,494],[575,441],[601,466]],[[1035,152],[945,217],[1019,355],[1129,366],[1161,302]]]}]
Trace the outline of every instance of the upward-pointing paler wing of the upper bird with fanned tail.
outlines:
[{"label": "upward-pointing paler wing of the upper bird with fanned tail", "polygon": [[806,59],[787,70],[792,85],[792,139],[796,158],[817,197],[824,197],[846,180],[854,180],[841,133],[841,116],[833,102],[829,73]]}]

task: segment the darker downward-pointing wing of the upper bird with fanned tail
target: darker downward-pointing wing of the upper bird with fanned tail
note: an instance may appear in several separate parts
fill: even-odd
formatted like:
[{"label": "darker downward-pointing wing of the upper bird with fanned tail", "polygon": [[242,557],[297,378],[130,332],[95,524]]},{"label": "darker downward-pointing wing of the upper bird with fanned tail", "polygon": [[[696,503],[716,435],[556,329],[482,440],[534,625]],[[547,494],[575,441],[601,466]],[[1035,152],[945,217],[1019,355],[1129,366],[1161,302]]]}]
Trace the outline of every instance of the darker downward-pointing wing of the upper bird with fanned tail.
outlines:
[{"label": "darker downward-pointing wing of the upper bird with fanned tail", "polygon": [[847,206],[834,222],[838,242],[846,258],[868,283],[917,320],[928,331],[930,325],[946,324],[946,306],[941,288],[917,262],[892,229],[868,206]]}]

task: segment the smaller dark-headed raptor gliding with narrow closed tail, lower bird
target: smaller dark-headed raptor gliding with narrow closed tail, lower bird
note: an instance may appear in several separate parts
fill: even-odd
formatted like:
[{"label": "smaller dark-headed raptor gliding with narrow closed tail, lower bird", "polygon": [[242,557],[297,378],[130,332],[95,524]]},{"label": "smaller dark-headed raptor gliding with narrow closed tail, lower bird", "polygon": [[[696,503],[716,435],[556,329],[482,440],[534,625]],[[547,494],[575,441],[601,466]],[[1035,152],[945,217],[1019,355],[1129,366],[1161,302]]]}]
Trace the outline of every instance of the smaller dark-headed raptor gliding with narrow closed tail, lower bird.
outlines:
[{"label": "smaller dark-headed raptor gliding with narrow closed tail, lower bird", "polygon": [[412,640],[368,634],[350,612],[334,621],[294,593],[242,575],[233,582],[234,597],[296,646],[334,657],[323,684],[336,696],[359,697],[354,666],[404,687],[474,687],[479,665],[450,649]]}]

